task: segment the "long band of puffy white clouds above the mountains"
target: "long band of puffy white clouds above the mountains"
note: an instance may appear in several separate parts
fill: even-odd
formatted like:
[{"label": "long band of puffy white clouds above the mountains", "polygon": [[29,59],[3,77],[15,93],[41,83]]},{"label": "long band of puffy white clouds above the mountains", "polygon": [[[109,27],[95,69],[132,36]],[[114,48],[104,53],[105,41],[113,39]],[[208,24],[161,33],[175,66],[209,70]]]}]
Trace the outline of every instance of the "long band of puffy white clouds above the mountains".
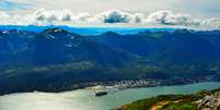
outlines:
[{"label": "long band of puffy white clouds above the mountains", "polygon": [[136,24],[142,26],[186,26],[219,28],[220,19],[199,19],[189,14],[172,11],[157,11],[150,14],[128,13],[119,10],[109,10],[92,15],[90,13],[73,14],[70,10],[44,10],[27,15],[11,15],[0,12],[1,25],[79,25],[79,24]]}]

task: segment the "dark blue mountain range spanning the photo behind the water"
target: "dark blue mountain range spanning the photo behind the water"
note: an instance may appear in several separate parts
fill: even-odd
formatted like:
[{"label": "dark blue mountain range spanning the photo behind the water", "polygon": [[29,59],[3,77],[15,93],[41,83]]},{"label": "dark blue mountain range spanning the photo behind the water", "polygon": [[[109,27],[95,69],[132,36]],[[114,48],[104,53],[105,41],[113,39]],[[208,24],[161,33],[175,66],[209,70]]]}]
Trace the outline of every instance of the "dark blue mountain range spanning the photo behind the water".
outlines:
[{"label": "dark blue mountain range spanning the photo behind the water", "polygon": [[[65,90],[88,82],[220,80],[220,30],[0,30],[0,91]],[[181,78],[181,81],[180,81]]]}]

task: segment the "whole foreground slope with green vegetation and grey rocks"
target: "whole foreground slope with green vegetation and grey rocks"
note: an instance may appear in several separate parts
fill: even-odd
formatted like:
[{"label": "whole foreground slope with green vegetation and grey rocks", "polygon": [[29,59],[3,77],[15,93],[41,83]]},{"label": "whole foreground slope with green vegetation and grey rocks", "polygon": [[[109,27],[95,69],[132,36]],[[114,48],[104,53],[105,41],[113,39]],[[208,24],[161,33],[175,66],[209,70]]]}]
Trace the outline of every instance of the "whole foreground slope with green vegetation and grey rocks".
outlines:
[{"label": "whole foreground slope with green vegetation and grey rocks", "polygon": [[116,110],[219,110],[220,89],[193,95],[163,95],[125,105]]}]

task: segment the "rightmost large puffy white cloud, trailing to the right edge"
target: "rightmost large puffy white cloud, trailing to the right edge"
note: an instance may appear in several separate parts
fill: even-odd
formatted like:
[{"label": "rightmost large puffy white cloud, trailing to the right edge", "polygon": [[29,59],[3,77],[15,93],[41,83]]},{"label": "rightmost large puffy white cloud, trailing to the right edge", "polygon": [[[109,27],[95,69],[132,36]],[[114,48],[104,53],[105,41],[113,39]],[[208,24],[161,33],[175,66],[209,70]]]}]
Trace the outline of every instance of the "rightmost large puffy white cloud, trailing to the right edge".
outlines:
[{"label": "rightmost large puffy white cloud, trailing to the right edge", "polygon": [[172,11],[158,11],[150,13],[146,19],[149,24],[175,25],[189,27],[219,28],[220,19],[199,19],[189,14],[174,13]]}]

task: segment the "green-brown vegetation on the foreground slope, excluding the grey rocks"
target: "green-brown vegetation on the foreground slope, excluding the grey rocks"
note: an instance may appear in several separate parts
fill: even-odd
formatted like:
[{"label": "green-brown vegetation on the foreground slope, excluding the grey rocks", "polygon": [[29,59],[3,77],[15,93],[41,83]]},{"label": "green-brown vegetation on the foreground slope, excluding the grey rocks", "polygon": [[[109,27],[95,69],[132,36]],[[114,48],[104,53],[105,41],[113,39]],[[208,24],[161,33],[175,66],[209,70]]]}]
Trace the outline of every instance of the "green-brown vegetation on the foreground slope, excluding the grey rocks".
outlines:
[{"label": "green-brown vegetation on the foreground slope, excluding the grey rocks", "polygon": [[130,105],[125,105],[117,110],[197,110],[197,100],[202,99],[207,95],[213,95],[217,91],[220,91],[220,89],[202,90],[193,95],[163,95],[138,100]]}]

